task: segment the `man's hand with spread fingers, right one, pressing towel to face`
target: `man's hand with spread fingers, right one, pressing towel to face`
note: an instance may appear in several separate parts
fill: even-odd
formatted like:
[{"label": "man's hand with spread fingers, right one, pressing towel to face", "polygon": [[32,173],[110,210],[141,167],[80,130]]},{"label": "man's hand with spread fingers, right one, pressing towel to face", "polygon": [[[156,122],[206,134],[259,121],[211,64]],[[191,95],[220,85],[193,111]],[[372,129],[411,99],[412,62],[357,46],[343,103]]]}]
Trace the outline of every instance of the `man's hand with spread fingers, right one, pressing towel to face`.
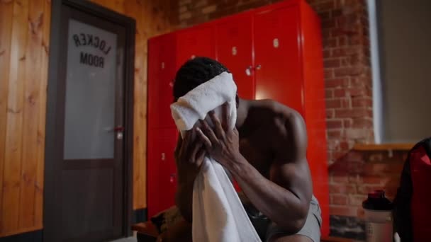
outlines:
[{"label": "man's hand with spread fingers, right one, pressing towel to face", "polygon": [[222,120],[220,122],[214,111],[208,113],[214,127],[211,128],[206,120],[200,120],[201,128],[196,128],[198,137],[205,144],[208,154],[220,164],[231,170],[244,161],[240,154],[239,135],[236,128],[229,127],[229,105],[223,104]]}]

